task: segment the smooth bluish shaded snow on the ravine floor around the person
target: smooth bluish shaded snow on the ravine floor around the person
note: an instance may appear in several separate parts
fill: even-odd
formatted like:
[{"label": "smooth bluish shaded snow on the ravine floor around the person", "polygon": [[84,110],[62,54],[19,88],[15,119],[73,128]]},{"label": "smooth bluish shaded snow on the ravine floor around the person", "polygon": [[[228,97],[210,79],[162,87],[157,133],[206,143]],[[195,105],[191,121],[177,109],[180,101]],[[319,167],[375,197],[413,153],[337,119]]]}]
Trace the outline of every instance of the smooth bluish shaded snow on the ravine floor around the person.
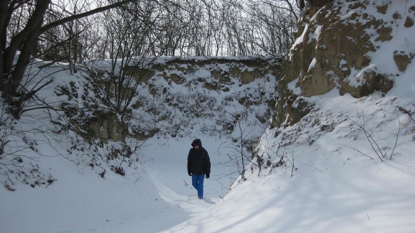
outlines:
[{"label": "smooth bluish shaded snow on the ravine floor around the person", "polygon": [[227,159],[218,152],[221,142],[202,138],[212,174],[199,200],[186,168],[192,139],[166,140],[148,140],[139,152],[143,166],[127,168],[124,177],[107,172],[102,179],[62,157],[39,158],[57,180],[47,188],[17,184],[14,192],[1,189],[0,232],[157,233],[211,208],[231,182],[222,176],[231,168],[220,164]]}]

